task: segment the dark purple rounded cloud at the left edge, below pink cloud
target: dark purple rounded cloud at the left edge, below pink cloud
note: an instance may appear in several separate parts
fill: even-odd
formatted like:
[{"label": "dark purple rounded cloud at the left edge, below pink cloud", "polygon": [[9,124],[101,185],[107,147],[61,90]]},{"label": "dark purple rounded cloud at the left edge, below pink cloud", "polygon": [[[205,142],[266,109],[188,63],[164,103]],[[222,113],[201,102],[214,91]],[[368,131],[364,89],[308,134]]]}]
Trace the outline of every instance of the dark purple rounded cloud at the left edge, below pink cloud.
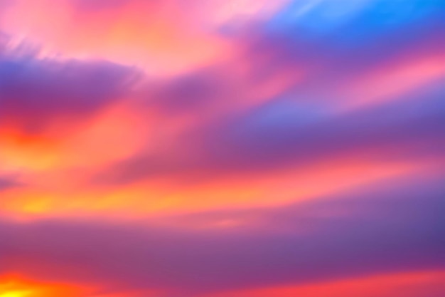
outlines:
[{"label": "dark purple rounded cloud at the left edge, below pink cloud", "polygon": [[107,61],[38,58],[23,43],[0,53],[0,125],[41,132],[84,122],[122,99],[136,71]]}]

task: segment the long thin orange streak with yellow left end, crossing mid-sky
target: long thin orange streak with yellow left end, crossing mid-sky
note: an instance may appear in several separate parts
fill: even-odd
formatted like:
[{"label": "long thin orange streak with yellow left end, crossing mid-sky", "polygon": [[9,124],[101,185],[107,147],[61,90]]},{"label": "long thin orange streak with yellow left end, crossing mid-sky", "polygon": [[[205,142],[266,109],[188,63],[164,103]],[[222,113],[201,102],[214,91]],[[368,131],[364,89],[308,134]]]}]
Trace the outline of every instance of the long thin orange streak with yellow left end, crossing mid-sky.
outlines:
[{"label": "long thin orange streak with yellow left end, crossing mid-sky", "polygon": [[85,214],[136,218],[221,207],[277,206],[408,174],[422,170],[422,166],[341,160],[272,174],[218,177],[197,184],[175,184],[159,177],[106,189],[66,185],[19,188],[2,193],[0,211],[22,219]]}]

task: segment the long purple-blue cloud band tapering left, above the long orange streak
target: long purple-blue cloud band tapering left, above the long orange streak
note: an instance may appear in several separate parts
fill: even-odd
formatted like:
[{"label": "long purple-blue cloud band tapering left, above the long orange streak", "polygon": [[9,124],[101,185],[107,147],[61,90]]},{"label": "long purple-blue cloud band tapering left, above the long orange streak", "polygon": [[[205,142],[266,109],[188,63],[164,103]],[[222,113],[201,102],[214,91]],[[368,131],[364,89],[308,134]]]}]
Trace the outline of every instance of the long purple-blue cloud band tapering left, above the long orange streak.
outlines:
[{"label": "long purple-blue cloud band tapering left, above the long orange streak", "polygon": [[273,100],[193,126],[191,131],[176,135],[178,145],[174,147],[181,149],[141,151],[100,170],[93,183],[187,179],[190,172],[205,178],[235,172],[267,173],[348,156],[443,162],[445,144],[439,136],[445,127],[443,94],[440,82],[433,83],[401,100],[341,114],[329,114],[292,99]]}]

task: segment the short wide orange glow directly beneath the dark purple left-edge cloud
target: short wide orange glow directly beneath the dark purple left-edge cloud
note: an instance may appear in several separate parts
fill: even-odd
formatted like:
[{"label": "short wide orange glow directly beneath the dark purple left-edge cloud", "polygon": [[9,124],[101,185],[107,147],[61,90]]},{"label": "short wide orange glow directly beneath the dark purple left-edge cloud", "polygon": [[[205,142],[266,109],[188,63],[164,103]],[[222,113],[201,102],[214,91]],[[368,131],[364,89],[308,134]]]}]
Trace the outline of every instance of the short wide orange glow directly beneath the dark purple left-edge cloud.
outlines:
[{"label": "short wide orange glow directly beneath the dark purple left-edge cloud", "polygon": [[154,127],[140,118],[124,105],[114,105],[92,120],[79,120],[79,127],[62,123],[36,135],[0,127],[1,169],[45,172],[97,167],[129,157],[144,141],[141,130],[149,134]]}]

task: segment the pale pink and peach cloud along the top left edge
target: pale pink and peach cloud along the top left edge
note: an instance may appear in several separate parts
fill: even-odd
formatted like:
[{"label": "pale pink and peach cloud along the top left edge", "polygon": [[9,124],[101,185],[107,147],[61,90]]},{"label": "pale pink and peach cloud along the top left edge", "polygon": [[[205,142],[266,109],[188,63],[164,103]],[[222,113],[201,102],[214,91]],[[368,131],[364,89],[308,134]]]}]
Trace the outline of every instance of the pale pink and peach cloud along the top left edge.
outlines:
[{"label": "pale pink and peach cloud along the top left edge", "polygon": [[99,56],[151,75],[171,75],[208,65],[224,53],[224,38],[203,24],[212,9],[205,1],[18,1],[5,14],[3,28],[65,57]]}]

